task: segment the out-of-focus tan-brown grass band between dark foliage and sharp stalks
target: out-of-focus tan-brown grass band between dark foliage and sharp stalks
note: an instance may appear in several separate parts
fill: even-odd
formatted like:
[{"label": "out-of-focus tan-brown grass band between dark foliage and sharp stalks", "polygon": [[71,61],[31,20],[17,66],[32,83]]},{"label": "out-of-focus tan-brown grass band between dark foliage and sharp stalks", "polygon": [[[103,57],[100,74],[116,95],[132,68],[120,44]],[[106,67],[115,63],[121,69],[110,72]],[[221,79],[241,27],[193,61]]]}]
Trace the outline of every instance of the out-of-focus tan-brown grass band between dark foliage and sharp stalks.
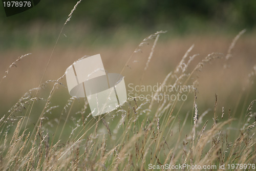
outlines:
[{"label": "out-of-focus tan-brown grass band between dark foliage and sharp stalks", "polygon": [[[30,36],[22,34],[25,37],[24,39],[31,41],[30,44],[32,45],[25,49],[16,49],[14,48],[16,45],[13,44],[1,53],[0,73],[2,75],[4,75],[10,63],[18,56],[32,53],[22,61],[19,61],[17,68],[12,68],[7,78],[2,82],[1,87],[3,89],[0,90],[0,94],[2,97],[1,103],[4,104],[1,108],[3,112],[6,112],[28,89],[38,86],[38,82],[47,65],[47,60],[56,38],[55,31],[50,33],[50,30],[56,29],[51,28],[47,31],[47,28],[41,28],[40,26],[34,26],[34,28],[35,30],[30,32]],[[46,35],[41,32],[46,32]],[[51,35],[50,39],[47,38],[49,37],[47,36],[48,33]],[[53,35],[55,35],[55,38]],[[76,36],[73,37],[73,35]],[[131,32],[120,30],[111,36],[97,35],[92,37],[92,35],[87,36],[86,32],[82,33],[81,30],[78,32],[71,32],[71,30],[65,32],[64,30],[53,53],[44,80],[54,80],[62,75],[73,61],[84,55],[98,53],[101,54],[106,70],[109,72],[120,72],[126,60],[139,44],[138,42],[143,39],[142,36],[136,36],[136,34]],[[46,41],[41,39],[42,37],[45,37]],[[190,68],[209,52],[223,53],[223,59],[213,61],[211,65],[207,65],[203,72],[198,73],[198,81],[200,82],[198,96],[202,95],[206,99],[211,99],[201,99],[202,105],[205,108],[211,105],[214,102],[212,97],[214,97],[215,93],[222,96],[220,100],[223,105],[227,104],[230,107],[237,105],[236,100],[239,99],[245,86],[246,75],[255,63],[255,49],[253,47],[255,47],[256,42],[254,41],[255,33],[243,35],[233,50],[232,58],[225,63],[224,54],[227,53],[233,37],[234,35],[223,35],[221,33],[187,36],[175,36],[172,33],[165,33],[159,39],[150,66],[143,76],[142,84],[154,85],[163,80],[165,75],[177,66],[184,52],[194,44],[191,55],[199,54],[199,56],[195,58],[194,63],[189,66]],[[5,39],[9,40],[8,37]],[[22,45],[20,42],[18,44]],[[136,62],[131,62],[129,64],[131,69],[127,69],[124,72],[126,84],[140,83],[140,77],[150,50],[151,45],[146,45],[143,47],[142,53],[134,55],[132,61]],[[228,68],[224,69],[224,65],[228,65]],[[226,88],[227,86],[229,89]],[[65,89],[61,94],[66,99],[69,96],[68,91]]]}]

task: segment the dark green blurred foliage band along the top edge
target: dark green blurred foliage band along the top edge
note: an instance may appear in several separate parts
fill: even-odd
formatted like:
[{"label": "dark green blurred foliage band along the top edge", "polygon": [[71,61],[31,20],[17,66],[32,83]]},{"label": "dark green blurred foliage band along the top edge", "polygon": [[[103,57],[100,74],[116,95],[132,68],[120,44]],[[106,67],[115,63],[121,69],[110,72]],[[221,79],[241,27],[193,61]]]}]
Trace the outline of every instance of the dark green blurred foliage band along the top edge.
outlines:
[{"label": "dark green blurred foliage band along the top edge", "polygon": [[[63,23],[77,1],[41,1],[34,8],[14,16],[0,14],[4,28],[28,25],[31,22]],[[3,9],[3,7],[2,7]],[[92,29],[139,27],[156,29],[167,26],[186,31],[191,27],[232,28],[248,30],[256,24],[255,0],[83,0],[72,16],[72,22]],[[192,28],[193,29],[193,28]]]}]

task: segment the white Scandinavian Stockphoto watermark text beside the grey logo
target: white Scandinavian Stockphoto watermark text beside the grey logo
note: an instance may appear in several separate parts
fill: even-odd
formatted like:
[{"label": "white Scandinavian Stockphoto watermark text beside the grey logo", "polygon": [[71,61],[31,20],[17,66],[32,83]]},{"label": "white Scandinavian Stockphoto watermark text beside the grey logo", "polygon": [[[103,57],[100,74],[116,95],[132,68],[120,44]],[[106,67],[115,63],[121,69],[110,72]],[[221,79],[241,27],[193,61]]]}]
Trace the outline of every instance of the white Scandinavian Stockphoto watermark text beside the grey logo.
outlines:
[{"label": "white Scandinavian Stockphoto watermark text beside the grey logo", "polygon": [[167,101],[186,101],[189,93],[194,93],[195,88],[192,85],[163,85],[161,83],[151,85],[135,85],[129,83],[127,86],[128,99],[137,101],[155,100],[157,102]]}]

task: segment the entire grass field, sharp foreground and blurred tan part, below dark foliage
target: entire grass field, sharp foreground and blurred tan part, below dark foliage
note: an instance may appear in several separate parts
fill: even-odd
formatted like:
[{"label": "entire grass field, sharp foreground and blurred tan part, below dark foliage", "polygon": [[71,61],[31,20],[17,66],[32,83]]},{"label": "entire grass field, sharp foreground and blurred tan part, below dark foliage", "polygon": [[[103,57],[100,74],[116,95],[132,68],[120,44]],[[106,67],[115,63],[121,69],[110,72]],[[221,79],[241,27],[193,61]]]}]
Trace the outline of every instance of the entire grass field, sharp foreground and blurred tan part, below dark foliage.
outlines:
[{"label": "entire grass field, sharp foreground and blurred tan part, below dark foliage", "polygon": [[[82,29],[64,29],[56,43],[51,28],[56,39],[45,43],[49,30],[40,28],[1,53],[1,170],[255,170],[255,32],[120,30],[83,41]],[[63,74],[98,53],[106,70],[124,76],[127,92],[130,83],[195,89],[165,92],[186,100],[129,97],[92,117],[87,99],[70,97]]]}]

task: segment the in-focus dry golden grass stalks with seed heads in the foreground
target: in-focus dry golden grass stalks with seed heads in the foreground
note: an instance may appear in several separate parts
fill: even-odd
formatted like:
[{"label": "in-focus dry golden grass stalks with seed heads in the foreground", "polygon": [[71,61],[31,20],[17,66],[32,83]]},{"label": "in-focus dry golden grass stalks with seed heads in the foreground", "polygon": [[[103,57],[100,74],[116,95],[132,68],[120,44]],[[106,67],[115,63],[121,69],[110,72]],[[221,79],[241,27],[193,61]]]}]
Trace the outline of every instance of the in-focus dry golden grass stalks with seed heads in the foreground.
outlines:
[{"label": "in-focus dry golden grass stalks with seed heads in the foreground", "polygon": [[[158,45],[159,35],[159,33],[153,34],[150,39],[142,42],[148,42],[155,47]],[[131,53],[132,56],[123,65],[122,74],[135,70],[132,66],[133,60],[141,55],[139,49],[144,46],[147,45],[138,46],[135,52]],[[142,80],[151,69],[150,66],[153,63],[157,65],[153,62],[157,48],[149,49],[150,53],[140,61],[140,63],[144,61],[144,67],[140,65],[142,72],[137,71],[140,75],[138,77]],[[141,51],[147,52],[146,49]],[[169,69],[169,74],[165,74],[167,76],[161,81],[162,85],[193,83],[196,87],[200,77],[204,72],[207,73],[205,67],[209,67],[210,62],[222,60],[218,69],[223,68],[224,64],[230,65],[225,59],[225,56],[231,56],[231,51],[227,50],[227,55],[210,53],[194,65],[194,68],[190,67],[197,57],[190,55],[192,51],[193,46],[181,58],[177,67]],[[60,62],[59,64],[61,65]],[[10,68],[8,72],[9,70]],[[56,71],[51,67],[49,70]],[[255,79],[255,66],[250,70],[244,92],[253,95],[255,92],[252,89],[252,81]],[[208,71],[207,77],[218,77],[218,74],[220,72]],[[10,75],[3,79],[3,83]],[[61,95],[66,91],[65,84],[61,83],[65,82],[64,77],[65,75],[56,80],[48,80],[39,87],[31,89],[2,117],[1,170],[149,170],[148,164],[219,167],[222,164],[227,166],[227,164],[256,163],[254,134],[256,113],[253,110],[255,101],[250,103],[250,96],[242,96],[237,100],[238,103],[244,102],[248,106],[240,111],[239,121],[236,120],[235,109],[219,101],[226,94],[212,96],[212,100],[207,97],[209,94],[199,97],[200,86],[197,86],[195,95],[189,95],[191,98],[187,101],[158,103],[156,100],[130,99],[120,109],[93,118],[88,103],[83,99],[71,97],[66,104],[56,100],[68,97]],[[127,77],[129,75],[125,79]],[[133,79],[138,78],[131,78]],[[127,78],[127,82],[129,81],[130,79]],[[51,82],[54,82],[52,88]],[[230,83],[225,88],[234,87]],[[212,110],[203,112],[200,109],[202,103],[199,100],[202,97],[204,101],[208,99],[213,101],[210,106]],[[219,106],[221,110],[218,110]],[[236,107],[240,108],[240,104],[234,104],[234,108]],[[184,168],[184,170],[188,169]],[[244,168],[239,167],[237,170]],[[254,169],[251,167],[247,170]]]}]

